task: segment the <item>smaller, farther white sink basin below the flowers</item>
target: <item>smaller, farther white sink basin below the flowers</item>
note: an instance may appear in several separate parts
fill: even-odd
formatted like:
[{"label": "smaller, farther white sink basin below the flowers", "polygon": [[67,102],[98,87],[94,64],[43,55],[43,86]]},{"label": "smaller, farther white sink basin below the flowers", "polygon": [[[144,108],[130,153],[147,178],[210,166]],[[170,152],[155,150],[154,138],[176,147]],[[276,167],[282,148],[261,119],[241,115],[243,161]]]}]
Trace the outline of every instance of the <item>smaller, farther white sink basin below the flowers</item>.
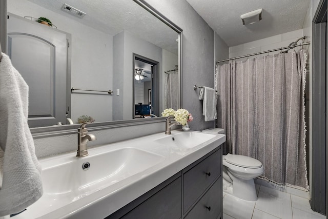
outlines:
[{"label": "smaller, farther white sink basin below the flowers", "polygon": [[173,147],[193,148],[211,140],[215,136],[216,134],[186,131],[166,135],[165,137],[158,138],[155,142],[161,145],[170,145]]}]

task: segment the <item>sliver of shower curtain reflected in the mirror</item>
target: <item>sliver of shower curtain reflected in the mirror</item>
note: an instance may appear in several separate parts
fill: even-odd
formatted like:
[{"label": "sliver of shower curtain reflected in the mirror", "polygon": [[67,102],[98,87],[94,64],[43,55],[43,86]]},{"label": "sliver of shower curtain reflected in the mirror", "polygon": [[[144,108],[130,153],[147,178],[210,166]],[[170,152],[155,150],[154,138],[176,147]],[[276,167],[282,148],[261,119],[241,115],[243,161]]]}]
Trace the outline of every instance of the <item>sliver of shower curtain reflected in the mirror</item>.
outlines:
[{"label": "sliver of shower curtain reflected in the mirror", "polygon": [[177,110],[178,103],[178,71],[166,75],[165,81],[165,108]]}]

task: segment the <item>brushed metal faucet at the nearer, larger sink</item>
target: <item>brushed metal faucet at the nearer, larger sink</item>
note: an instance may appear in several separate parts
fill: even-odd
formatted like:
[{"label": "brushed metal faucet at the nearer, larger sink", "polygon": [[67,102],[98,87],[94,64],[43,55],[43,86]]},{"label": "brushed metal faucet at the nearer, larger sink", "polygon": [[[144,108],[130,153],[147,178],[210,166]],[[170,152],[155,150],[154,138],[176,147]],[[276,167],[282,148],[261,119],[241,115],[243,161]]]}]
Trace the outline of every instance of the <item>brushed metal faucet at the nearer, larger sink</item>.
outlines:
[{"label": "brushed metal faucet at the nearer, larger sink", "polygon": [[88,141],[96,140],[96,136],[88,134],[86,125],[90,122],[83,123],[81,127],[77,129],[77,157],[88,156]]}]

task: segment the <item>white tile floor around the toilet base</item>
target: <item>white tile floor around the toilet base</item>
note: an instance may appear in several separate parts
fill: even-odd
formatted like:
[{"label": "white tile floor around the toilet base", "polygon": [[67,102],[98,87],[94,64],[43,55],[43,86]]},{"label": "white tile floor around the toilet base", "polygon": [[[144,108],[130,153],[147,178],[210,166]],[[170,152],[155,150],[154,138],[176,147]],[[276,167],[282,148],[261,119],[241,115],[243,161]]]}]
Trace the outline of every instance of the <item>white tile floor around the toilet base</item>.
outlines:
[{"label": "white tile floor around the toilet base", "polygon": [[258,200],[243,201],[223,192],[223,219],[323,219],[311,210],[309,200],[256,185]]}]

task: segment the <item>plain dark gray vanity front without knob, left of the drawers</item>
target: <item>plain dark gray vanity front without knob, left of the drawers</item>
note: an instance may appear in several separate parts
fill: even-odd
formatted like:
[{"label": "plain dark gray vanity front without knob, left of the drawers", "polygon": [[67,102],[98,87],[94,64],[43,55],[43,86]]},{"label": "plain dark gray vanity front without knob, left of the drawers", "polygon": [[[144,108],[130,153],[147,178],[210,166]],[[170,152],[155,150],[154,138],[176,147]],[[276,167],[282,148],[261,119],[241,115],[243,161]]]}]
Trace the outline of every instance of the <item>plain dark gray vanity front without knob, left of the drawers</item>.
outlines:
[{"label": "plain dark gray vanity front without knob, left of the drawers", "polygon": [[181,218],[181,176],[121,218]]}]

